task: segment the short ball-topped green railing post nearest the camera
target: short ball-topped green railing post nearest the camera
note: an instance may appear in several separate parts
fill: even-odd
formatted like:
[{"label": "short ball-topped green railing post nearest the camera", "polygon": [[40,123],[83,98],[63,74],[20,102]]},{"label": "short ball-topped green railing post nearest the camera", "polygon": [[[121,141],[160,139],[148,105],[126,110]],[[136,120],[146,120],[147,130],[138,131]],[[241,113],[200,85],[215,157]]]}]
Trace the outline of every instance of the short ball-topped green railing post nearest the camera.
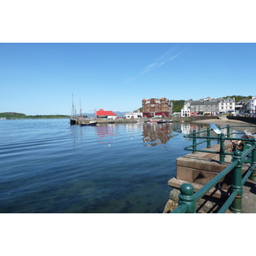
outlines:
[{"label": "short ball-topped green railing post nearest the camera", "polygon": [[189,183],[183,183],[180,186],[181,194],[178,195],[178,205],[184,204],[187,207],[186,213],[195,213],[195,201],[191,198],[194,194],[194,187]]}]

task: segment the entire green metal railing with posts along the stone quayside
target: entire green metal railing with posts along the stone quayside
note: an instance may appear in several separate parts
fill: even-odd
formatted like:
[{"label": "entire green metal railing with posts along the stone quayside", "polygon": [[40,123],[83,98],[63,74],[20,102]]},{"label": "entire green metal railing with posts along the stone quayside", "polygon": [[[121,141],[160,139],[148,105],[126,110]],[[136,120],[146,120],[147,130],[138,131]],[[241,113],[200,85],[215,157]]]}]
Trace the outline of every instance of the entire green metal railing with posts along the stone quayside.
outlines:
[{"label": "entire green metal railing with posts along the stone quayside", "polygon": [[[232,172],[232,184],[231,184],[231,193],[227,201],[224,202],[224,205],[219,209],[218,213],[224,213],[227,211],[227,209],[230,207],[231,212],[240,213],[242,211],[242,205],[241,205],[241,198],[242,198],[242,187],[244,183],[246,183],[247,178],[250,178],[252,180],[256,180],[256,170],[254,170],[256,166],[256,139],[241,139],[241,138],[234,138],[230,137],[230,127],[238,127],[238,126],[227,126],[224,128],[227,128],[227,137],[224,136],[224,133],[220,134],[218,138],[211,137],[210,131],[207,129],[207,137],[201,137],[196,136],[200,134],[201,132],[206,131],[200,131],[195,132],[193,131],[192,134],[184,136],[184,137],[192,137],[193,138],[193,145],[192,145],[192,151],[195,153],[196,151],[201,152],[210,152],[210,153],[216,153],[220,155],[220,164],[224,164],[224,141],[225,140],[243,140],[243,141],[249,141],[247,143],[246,149],[241,152],[239,150],[236,150],[233,155],[233,160],[230,166],[227,166],[222,172],[220,172],[216,177],[212,178],[210,182],[208,182],[206,185],[204,185],[201,189],[199,189],[197,192],[195,192],[195,189],[192,184],[189,183],[183,183],[180,187],[180,195],[179,195],[179,202],[178,207],[173,210],[171,213],[194,213],[196,210],[196,202],[201,199],[204,195],[207,194],[207,192],[212,189],[217,183],[220,182],[222,178],[224,178],[227,174]],[[239,127],[248,127],[248,126],[239,126]],[[252,126],[250,126],[252,127]],[[254,127],[254,126],[253,126]],[[256,127],[256,126],[255,126]],[[219,129],[224,129],[220,128]],[[220,151],[210,151],[210,150],[199,150],[197,149],[197,145],[201,143],[196,143],[197,138],[203,138],[207,139],[203,143],[207,143],[207,148],[210,148],[209,145],[211,145],[212,139],[218,139],[220,143]],[[191,146],[190,146],[191,147]],[[189,150],[189,147],[184,148],[186,150]],[[250,156],[249,160],[247,160],[247,157]],[[242,171],[241,167],[243,163],[250,163],[250,167],[247,170],[247,172],[242,177]],[[194,194],[195,192],[195,194]]]}]

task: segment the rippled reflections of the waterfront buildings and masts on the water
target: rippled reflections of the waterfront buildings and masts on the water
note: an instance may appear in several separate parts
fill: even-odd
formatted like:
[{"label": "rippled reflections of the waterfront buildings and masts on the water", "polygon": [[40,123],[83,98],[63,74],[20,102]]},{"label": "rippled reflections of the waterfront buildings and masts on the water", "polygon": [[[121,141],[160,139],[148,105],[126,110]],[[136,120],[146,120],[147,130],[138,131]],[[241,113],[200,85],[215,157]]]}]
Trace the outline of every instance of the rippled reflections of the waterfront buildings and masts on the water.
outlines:
[{"label": "rippled reflections of the waterfront buildings and masts on the water", "polygon": [[[122,127],[122,128],[121,128]],[[106,124],[97,126],[71,126],[73,135],[73,149],[77,148],[77,143],[83,145],[83,140],[86,138],[92,139],[91,135],[96,134],[97,143],[108,143],[111,145],[113,140],[117,139],[123,134],[123,128],[127,137],[142,137],[144,147],[152,147],[159,144],[166,144],[172,137],[176,137],[178,134],[188,135],[193,130],[202,131],[206,130],[206,125],[189,124],[189,123],[166,123],[166,124],[154,124],[154,123],[134,123],[134,124]],[[190,140],[191,138],[185,138]]]}]

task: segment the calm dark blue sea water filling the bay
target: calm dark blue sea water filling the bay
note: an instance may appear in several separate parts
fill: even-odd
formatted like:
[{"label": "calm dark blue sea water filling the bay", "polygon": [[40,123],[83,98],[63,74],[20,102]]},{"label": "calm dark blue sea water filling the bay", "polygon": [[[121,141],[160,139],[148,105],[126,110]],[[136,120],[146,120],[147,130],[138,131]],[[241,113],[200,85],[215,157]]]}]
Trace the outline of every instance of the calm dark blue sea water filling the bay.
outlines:
[{"label": "calm dark blue sea water filling the bay", "polygon": [[0,212],[163,212],[192,129],[0,120]]}]

